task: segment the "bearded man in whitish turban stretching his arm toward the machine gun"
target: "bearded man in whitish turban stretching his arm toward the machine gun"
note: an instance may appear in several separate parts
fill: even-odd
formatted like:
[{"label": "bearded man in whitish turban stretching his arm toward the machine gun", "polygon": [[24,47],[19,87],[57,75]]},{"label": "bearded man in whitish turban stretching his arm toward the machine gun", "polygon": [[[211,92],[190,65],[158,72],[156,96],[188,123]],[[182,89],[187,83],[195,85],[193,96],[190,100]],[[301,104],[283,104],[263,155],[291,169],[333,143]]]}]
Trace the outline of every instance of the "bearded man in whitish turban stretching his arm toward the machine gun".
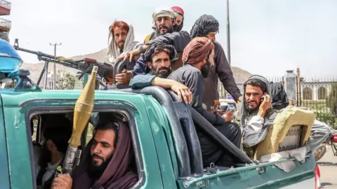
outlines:
[{"label": "bearded man in whitish turban stretching his arm toward the machine gun", "polygon": [[[191,41],[191,37],[187,31],[174,31],[173,26],[176,25],[175,17],[176,15],[172,8],[159,8],[152,14],[156,31],[152,33],[150,41],[147,41],[136,50],[131,50],[122,57],[124,60],[129,58],[131,61],[135,56],[140,55],[140,58],[136,61],[136,65],[133,68],[133,76],[145,73],[145,70],[147,69],[147,62],[145,61],[145,57],[142,53],[155,43],[173,45],[178,53],[175,59],[171,59],[172,69],[178,69],[182,65],[179,53],[183,52],[187,43]],[[124,77],[123,80],[124,82],[121,84],[128,84],[130,81],[126,77]]]}]

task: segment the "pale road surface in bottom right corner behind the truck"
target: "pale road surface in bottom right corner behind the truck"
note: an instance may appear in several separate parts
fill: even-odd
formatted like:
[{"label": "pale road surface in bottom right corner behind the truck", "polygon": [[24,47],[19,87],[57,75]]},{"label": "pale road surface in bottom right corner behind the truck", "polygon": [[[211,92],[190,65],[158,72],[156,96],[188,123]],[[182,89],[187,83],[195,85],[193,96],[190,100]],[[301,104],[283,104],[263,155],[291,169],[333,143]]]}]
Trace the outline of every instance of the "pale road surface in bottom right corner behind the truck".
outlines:
[{"label": "pale road surface in bottom right corner behind the truck", "polygon": [[337,188],[337,156],[333,156],[331,148],[327,149],[326,154],[318,161],[318,165],[322,187],[326,189]]}]

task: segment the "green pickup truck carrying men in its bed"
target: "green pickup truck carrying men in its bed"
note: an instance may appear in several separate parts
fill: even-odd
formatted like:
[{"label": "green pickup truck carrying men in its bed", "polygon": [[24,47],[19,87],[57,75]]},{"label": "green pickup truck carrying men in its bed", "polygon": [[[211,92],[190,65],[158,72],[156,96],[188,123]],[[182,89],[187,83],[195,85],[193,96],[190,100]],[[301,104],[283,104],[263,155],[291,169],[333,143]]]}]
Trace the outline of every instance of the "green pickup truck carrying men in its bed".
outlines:
[{"label": "green pickup truck carrying men in its bed", "polygon": [[[71,113],[80,93],[81,90],[0,90],[0,188],[37,188],[31,120],[33,116],[39,118],[39,141],[41,115]],[[319,169],[311,153],[305,162],[294,158],[253,161],[199,113],[174,101],[174,94],[173,98],[170,94],[161,87],[95,92],[94,112],[111,113],[131,128],[139,176],[133,188],[319,188]],[[195,127],[211,134],[241,163],[235,167],[202,167]],[[82,148],[87,142],[86,132]],[[296,164],[291,172],[275,166],[289,161]]]}]

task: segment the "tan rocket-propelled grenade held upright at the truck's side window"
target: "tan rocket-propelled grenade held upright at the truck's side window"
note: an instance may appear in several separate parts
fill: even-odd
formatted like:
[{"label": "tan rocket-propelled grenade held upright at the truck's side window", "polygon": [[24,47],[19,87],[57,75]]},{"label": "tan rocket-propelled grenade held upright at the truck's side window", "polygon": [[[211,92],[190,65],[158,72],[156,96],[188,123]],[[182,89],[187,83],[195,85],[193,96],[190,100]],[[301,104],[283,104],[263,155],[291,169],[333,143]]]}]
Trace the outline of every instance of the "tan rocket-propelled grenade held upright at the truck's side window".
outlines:
[{"label": "tan rocket-propelled grenade held upright at the truck's side window", "polygon": [[88,124],[88,120],[93,112],[94,94],[95,94],[95,76],[98,71],[98,66],[93,66],[91,76],[79,95],[79,99],[75,104],[74,109],[74,125],[72,129],[72,137],[69,140],[69,146],[65,155],[65,161],[62,166],[63,174],[71,174],[75,165],[79,164],[79,157],[81,156],[81,150],[78,147],[81,145],[81,135],[84,128]]}]

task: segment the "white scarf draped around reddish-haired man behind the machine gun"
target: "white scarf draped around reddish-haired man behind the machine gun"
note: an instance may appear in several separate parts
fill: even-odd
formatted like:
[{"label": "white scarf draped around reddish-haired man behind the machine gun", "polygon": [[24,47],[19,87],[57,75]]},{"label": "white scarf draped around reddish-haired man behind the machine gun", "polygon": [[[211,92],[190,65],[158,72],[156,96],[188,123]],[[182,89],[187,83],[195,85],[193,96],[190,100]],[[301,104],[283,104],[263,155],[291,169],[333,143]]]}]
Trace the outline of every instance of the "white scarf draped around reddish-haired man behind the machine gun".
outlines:
[{"label": "white scarf draped around reddish-haired man behind the machine gun", "polygon": [[133,26],[131,24],[128,24],[128,35],[126,36],[125,43],[124,43],[124,49],[123,53],[120,54],[118,45],[116,41],[114,41],[114,36],[112,35],[110,28],[109,28],[109,37],[107,41],[107,60],[114,64],[116,62],[117,58],[120,55],[125,55],[126,52],[129,52],[131,50],[135,50],[138,45],[142,45],[142,43],[135,40],[135,35],[133,32]]}]

